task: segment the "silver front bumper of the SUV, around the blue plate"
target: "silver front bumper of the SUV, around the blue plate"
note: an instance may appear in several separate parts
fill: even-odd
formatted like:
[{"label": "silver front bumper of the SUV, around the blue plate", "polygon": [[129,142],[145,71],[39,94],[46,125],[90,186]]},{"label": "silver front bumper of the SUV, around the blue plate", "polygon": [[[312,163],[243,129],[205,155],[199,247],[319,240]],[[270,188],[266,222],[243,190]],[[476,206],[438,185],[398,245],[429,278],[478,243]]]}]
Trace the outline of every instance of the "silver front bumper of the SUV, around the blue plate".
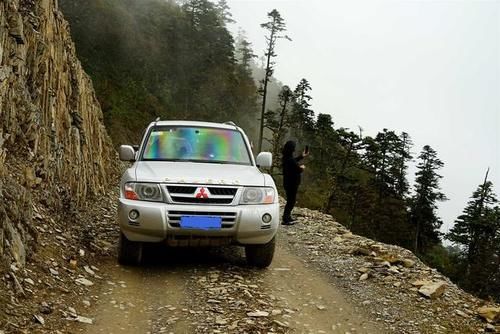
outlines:
[{"label": "silver front bumper of the SUV, around the blue plate", "polygon": [[[137,210],[136,220],[129,218]],[[262,221],[270,214],[269,224]],[[183,229],[182,215],[221,216],[222,228],[217,230]],[[263,205],[182,205],[119,199],[118,221],[127,239],[141,242],[167,241],[171,245],[212,245],[234,243],[265,244],[271,241],[279,225],[279,204]]]}]

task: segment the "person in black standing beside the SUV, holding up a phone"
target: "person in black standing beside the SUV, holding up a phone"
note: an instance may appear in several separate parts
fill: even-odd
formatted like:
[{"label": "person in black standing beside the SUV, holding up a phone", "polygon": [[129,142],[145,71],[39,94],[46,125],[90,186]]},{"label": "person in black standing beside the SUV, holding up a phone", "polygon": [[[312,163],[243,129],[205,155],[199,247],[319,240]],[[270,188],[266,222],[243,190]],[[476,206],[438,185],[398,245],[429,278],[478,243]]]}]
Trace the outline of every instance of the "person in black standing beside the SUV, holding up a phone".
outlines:
[{"label": "person in black standing beside the SUV, holding up a phone", "polygon": [[305,169],[304,165],[299,165],[299,161],[306,157],[309,153],[303,152],[298,157],[294,158],[295,142],[289,140],[283,146],[283,157],[281,160],[283,167],[283,187],[286,192],[286,205],[283,212],[283,225],[293,225],[295,222],[292,219],[292,210],[297,199],[297,190],[299,189],[301,174]]}]

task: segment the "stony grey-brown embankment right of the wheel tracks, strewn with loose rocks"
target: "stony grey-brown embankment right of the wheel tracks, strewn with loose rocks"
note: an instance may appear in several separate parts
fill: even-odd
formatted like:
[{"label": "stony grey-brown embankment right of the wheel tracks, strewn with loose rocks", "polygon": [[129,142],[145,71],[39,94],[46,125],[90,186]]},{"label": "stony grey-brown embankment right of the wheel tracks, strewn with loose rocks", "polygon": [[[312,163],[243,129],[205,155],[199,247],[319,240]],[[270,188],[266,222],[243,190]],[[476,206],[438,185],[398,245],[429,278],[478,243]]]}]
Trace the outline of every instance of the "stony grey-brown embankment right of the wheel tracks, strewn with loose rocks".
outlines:
[{"label": "stony grey-brown embankment right of the wheel tracks, strewn with loose rocks", "polygon": [[412,252],[352,234],[317,211],[297,210],[282,233],[288,248],[395,333],[481,333],[500,330],[500,306],[453,284]]}]

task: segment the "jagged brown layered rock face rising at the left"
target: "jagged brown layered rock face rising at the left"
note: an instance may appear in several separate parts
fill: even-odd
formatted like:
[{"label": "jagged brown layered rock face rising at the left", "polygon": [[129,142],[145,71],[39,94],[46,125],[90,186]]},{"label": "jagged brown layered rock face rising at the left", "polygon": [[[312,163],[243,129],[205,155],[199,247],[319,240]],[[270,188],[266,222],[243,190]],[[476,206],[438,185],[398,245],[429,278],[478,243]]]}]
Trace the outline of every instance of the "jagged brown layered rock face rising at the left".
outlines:
[{"label": "jagged brown layered rock face rising at the left", "polygon": [[107,187],[114,151],[102,118],[57,1],[1,1],[0,259],[24,264],[36,194],[81,205]]}]

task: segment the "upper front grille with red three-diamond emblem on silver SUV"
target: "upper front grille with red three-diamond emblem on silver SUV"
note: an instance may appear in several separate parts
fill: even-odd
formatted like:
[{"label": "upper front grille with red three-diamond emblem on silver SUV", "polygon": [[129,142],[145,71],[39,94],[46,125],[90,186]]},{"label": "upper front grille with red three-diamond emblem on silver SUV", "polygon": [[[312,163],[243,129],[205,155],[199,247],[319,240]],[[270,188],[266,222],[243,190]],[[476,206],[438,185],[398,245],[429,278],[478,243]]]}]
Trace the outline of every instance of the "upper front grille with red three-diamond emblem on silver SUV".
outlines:
[{"label": "upper front grille with red three-diamond emblem on silver SUV", "polygon": [[172,202],[178,204],[229,205],[233,203],[238,192],[238,188],[235,187],[194,185],[167,185],[166,189]]}]

